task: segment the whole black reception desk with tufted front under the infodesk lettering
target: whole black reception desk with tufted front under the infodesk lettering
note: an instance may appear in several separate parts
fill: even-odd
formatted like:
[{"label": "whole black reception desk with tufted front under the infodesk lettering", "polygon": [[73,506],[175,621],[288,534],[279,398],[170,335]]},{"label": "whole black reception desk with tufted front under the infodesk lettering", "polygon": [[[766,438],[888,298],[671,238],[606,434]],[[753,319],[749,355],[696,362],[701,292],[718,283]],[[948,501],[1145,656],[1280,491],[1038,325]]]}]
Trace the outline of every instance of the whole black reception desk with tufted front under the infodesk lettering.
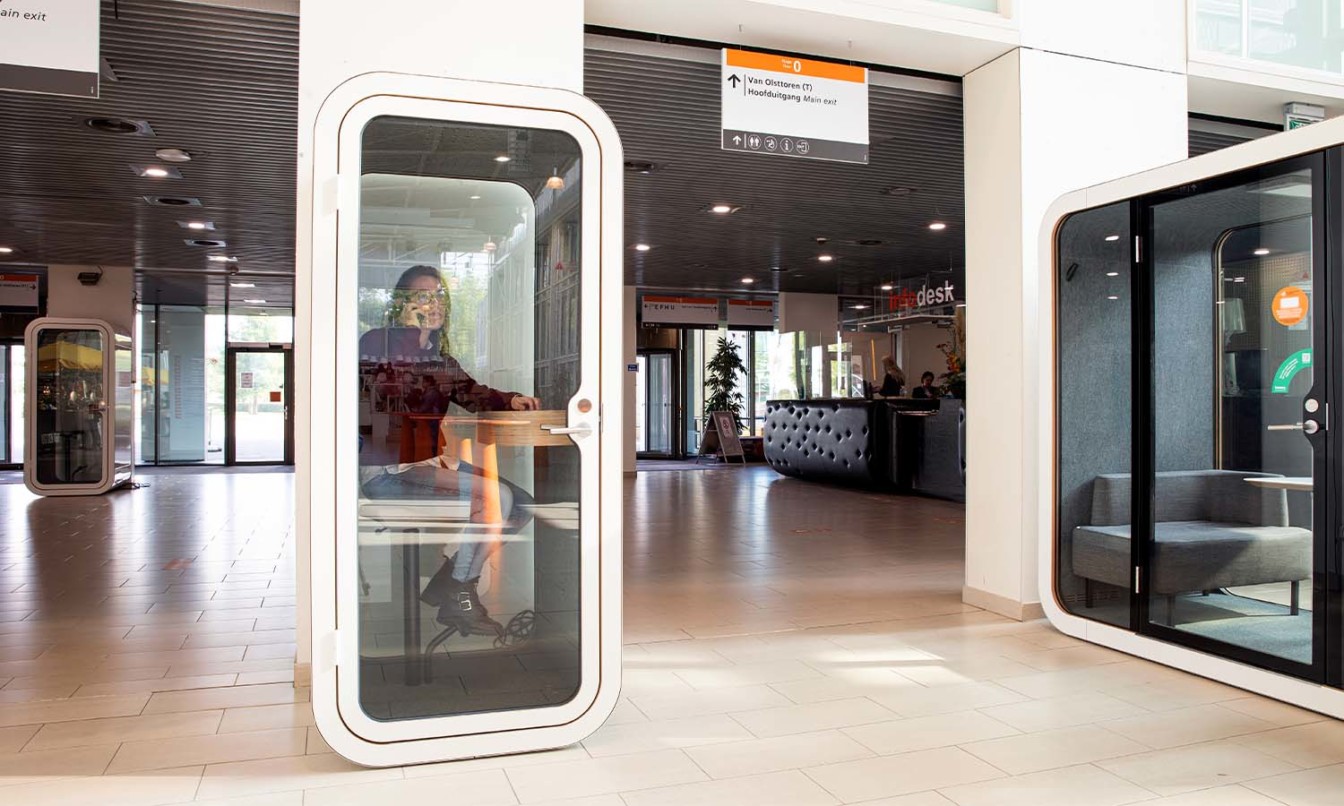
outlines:
[{"label": "whole black reception desk with tufted front under the infodesk lettering", "polygon": [[770,400],[765,459],[784,476],[965,500],[961,400]]}]

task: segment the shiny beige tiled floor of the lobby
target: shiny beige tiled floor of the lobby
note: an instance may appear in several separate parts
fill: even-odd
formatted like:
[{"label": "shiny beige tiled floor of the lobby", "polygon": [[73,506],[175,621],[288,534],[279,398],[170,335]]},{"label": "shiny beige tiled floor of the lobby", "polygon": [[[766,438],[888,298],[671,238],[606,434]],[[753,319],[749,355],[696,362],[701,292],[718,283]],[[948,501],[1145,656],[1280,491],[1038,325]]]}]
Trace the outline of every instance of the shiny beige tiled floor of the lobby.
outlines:
[{"label": "shiny beige tiled floor of the lobby", "polygon": [[0,802],[1344,803],[1344,727],[962,604],[953,504],[626,486],[626,673],[527,756],[363,770],[292,685],[288,474],[0,485]]}]

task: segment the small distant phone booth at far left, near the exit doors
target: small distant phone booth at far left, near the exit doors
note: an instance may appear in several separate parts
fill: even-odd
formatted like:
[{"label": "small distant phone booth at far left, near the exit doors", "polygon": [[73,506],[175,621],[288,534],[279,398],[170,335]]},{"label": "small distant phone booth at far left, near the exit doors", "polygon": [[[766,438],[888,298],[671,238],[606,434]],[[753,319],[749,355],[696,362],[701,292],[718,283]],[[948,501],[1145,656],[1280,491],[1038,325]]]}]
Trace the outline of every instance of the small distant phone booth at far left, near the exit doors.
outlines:
[{"label": "small distant phone booth at far left, near the exit doors", "polygon": [[24,330],[23,482],[39,496],[98,496],[134,467],[134,352],[105,321],[39,318]]}]

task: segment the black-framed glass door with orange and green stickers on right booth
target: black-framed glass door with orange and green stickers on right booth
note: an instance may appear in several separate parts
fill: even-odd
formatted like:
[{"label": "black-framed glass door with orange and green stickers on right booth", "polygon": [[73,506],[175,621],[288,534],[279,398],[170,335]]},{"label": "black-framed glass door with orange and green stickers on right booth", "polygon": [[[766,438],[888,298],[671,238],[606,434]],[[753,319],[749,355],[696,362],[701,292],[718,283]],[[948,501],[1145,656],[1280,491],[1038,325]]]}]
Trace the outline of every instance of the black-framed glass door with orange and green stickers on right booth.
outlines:
[{"label": "black-framed glass door with orange and green stickers on right booth", "polygon": [[[1321,678],[1329,426],[1322,160],[1141,207],[1150,349],[1141,631]],[[1140,330],[1142,332],[1142,330]],[[1145,455],[1146,454],[1146,455]]]}]

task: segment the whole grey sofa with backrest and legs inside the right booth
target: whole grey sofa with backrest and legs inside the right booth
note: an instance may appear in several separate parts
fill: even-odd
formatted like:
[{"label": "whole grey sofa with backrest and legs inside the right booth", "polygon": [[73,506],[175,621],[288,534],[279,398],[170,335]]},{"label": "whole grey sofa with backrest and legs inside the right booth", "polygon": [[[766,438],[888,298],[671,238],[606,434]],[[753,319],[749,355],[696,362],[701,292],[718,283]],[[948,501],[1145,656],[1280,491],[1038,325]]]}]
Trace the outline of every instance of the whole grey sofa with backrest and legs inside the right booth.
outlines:
[{"label": "whole grey sofa with backrest and legs inside the right booth", "polygon": [[[1271,473],[1179,470],[1157,474],[1156,545],[1146,588],[1167,598],[1167,623],[1177,594],[1224,587],[1298,583],[1312,575],[1312,532],[1288,523],[1285,490],[1250,485]],[[1083,578],[1086,606],[1093,582],[1130,586],[1129,474],[1093,481],[1091,523],[1074,529],[1074,574]]]}]

